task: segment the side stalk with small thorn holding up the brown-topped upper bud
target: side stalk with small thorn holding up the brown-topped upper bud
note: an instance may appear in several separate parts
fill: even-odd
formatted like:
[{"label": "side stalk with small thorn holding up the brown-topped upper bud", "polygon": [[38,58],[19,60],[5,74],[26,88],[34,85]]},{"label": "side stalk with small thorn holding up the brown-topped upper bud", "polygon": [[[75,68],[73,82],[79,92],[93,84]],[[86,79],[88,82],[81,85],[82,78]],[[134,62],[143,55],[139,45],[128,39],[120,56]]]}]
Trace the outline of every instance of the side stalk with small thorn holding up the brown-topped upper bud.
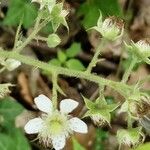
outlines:
[{"label": "side stalk with small thorn holding up the brown-topped upper bud", "polygon": [[96,63],[98,61],[98,56],[100,55],[100,51],[102,50],[102,48],[104,47],[104,44],[105,44],[105,40],[102,39],[100,44],[98,45],[98,47],[96,48],[95,50],[95,54],[91,60],[91,62],[89,63],[89,66],[87,67],[87,72],[91,72],[92,71],[92,68],[96,66]]}]

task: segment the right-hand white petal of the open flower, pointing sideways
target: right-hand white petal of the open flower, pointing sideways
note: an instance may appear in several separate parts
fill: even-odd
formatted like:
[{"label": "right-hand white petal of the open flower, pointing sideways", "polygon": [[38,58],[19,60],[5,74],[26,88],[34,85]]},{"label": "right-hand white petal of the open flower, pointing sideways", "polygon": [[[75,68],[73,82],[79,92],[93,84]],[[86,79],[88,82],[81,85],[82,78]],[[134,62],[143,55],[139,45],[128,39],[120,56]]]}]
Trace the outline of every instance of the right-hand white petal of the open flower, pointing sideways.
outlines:
[{"label": "right-hand white petal of the open flower, pointing sideways", "polygon": [[75,132],[79,133],[87,133],[88,127],[87,125],[77,117],[71,118],[70,120],[70,128]]}]

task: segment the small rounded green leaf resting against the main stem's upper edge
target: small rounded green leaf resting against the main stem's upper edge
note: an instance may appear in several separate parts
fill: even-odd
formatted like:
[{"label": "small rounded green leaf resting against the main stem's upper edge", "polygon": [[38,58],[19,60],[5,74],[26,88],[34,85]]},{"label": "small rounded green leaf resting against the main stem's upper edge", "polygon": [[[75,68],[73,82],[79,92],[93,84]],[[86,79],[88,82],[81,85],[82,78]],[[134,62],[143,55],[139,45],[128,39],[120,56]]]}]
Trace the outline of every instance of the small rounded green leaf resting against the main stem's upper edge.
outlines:
[{"label": "small rounded green leaf resting against the main stem's upper edge", "polygon": [[74,70],[85,70],[85,67],[83,66],[82,62],[80,62],[78,59],[70,59],[66,62],[66,66],[69,69]]}]

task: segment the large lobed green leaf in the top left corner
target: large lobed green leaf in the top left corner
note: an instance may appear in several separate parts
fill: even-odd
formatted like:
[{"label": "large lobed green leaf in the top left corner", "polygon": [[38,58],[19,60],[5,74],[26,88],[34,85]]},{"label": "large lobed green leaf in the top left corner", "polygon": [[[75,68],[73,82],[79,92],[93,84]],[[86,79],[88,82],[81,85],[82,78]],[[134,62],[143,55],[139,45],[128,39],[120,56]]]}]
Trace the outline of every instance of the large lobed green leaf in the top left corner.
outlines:
[{"label": "large lobed green leaf in the top left corner", "polygon": [[11,0],[6,17],[3,21],[4,25],[17,26],[23,17],[23,26],[29,28],[33,25],[37,17],[37,9],[30,0]]}]

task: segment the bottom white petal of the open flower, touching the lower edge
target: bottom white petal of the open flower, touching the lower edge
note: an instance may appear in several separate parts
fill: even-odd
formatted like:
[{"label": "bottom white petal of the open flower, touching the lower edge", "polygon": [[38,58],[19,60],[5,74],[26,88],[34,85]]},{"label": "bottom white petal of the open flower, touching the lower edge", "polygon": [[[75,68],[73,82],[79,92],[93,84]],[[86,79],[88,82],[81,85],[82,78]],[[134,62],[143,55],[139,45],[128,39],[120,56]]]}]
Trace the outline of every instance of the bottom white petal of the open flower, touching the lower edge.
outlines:
[{"label": "bottom white petal of the open flower, touching the lower edge", "polygon": [[55,150],[63,149],[65,146],[65,143],[66,143],[66,139],[65,139],[65,136],[63,136],[63,135],[52,138],[52,144],[53,144],[53,147],[55,148]]}]

